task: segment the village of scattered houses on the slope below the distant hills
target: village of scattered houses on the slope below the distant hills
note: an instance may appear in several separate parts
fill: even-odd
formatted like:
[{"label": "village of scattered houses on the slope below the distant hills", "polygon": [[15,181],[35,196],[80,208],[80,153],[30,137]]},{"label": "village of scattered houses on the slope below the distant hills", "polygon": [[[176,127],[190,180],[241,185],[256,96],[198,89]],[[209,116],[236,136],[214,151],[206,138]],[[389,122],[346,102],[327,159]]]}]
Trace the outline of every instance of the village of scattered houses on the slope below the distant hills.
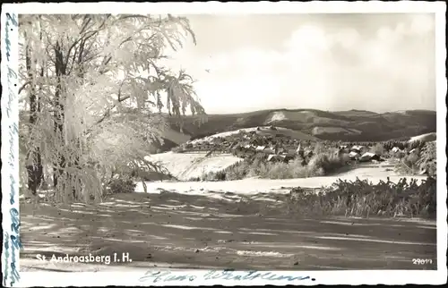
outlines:
[{"label": "village of scattered houses on the slope below the distant hills", "polygon": [[[346,160],[346,164],[392,162],[409,155],[416,155],[425,147],[422,140],[389,140],[383,142],[343,142],[328,140],[297,140],[282,133],[284,128],[262,126],[222,132],[202,139],[190,140],[172,150],[177,153],[205,151],[205,157],[212,154],[228,153],[246,160],[258,158],[265,163],[290,163],[300,159],[301,165],[307,165],[318,153],[316,149],[329,152],[334,157]],[[429,136],[434,142],[434,135]],[[427,174],[422,167],[418,174]]]}]

